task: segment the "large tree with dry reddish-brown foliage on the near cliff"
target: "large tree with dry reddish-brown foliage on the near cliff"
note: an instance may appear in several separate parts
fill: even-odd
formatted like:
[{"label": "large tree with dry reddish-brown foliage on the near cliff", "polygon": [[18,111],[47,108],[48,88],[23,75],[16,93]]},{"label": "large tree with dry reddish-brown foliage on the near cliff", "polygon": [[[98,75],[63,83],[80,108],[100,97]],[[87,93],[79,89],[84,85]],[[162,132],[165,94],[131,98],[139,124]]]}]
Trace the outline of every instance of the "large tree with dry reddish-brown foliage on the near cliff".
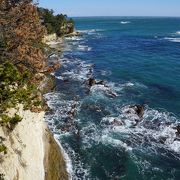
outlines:
[{"label": "large tree with dry reddish-brown foliage on the near cliff", "polygon": [[45,32],[32,0],[0,0],[1,62],[9,59],[20,70],[42,71],[45,58],[40,44]]}]

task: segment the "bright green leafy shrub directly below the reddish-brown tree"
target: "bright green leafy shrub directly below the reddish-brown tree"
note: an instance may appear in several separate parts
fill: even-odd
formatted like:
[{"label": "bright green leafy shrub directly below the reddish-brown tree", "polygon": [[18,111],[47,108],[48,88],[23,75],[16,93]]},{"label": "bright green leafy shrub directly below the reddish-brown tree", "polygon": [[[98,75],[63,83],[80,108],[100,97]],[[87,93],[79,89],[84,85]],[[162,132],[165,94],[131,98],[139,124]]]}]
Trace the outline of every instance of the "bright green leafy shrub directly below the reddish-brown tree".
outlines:
[{"label": "bright green leafy shrub directly below the reddish-brown tree", "polygon": [[21,74],[8,61],[0,65],[0,113],[16,107],[18,103],[26,108],[33,105],[37,87],[29,83],[30,77],[29,72]]}]

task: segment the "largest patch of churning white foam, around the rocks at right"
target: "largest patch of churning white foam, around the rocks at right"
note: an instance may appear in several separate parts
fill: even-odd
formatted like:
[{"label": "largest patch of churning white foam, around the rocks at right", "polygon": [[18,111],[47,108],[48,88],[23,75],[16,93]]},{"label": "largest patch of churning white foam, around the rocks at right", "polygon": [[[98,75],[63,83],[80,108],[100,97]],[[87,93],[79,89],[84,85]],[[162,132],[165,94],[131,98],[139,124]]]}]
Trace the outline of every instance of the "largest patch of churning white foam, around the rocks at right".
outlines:
[{"label": "largest patch of churning white foam, around the rocks at right", "polygon": [[125,144],[126,139],[129,139],[131,143],[128,147],[132,149],[142,148],[143,144],[149,144],[149,153],[157,153],[158,147],[180,153],[180,139],[176,135],[176,117],[167,112],[147,109],[143,119],[137,124],[138,119],[134,110],[125,106],[118,117],[104,117],[101,124],[106,125],[110,133],[126,137],[123,140]]}]

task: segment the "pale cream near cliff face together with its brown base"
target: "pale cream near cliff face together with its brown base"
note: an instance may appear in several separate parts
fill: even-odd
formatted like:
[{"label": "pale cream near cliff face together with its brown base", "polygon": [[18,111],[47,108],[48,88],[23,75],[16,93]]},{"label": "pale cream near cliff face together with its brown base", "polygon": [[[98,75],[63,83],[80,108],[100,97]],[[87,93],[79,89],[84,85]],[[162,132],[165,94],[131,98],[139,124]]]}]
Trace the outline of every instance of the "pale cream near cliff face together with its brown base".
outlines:
[{"label": "pale cream near cliff face together with its brown base", "polygon": [[[33,113],[11,109],[23,120],[10,132],[0,127],[0,137],[7,154],[0,154],[0,173],[5,180],[63,180],[68,179],[60,148],[44,123],[44,112]],[[45,173],[46,171],[46,173]]]}]

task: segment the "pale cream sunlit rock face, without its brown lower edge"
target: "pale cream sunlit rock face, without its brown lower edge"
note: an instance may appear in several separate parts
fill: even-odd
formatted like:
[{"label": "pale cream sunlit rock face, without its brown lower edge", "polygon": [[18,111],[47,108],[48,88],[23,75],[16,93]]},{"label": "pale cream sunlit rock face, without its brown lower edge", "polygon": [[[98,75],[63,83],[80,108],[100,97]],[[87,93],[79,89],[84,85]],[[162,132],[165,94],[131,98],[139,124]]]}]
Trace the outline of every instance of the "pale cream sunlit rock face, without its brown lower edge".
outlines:
[{"label": "pale cream sunlit rock face, without its brown lower edge", "polygon": [[7,180],[44,179],[43,119],[44,112],[32,113],[19,106],[17,113],[23,120],[12,132],[0,127],[0,136],[5,139],[7,154],[2,158],[0,172]]}]

